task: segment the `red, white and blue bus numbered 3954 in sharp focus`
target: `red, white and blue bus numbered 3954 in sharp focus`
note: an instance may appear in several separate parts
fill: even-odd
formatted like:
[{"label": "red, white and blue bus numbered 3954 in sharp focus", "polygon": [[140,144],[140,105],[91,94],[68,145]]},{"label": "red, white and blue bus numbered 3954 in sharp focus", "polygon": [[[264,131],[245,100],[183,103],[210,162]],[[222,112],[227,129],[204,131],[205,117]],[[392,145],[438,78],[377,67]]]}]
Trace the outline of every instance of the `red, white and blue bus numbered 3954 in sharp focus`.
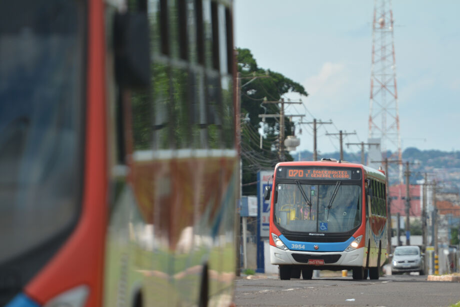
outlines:
[{"label": "red, white and blue bus numbered 3954 in sharp focus", "polygon": [[281,162],[265,192],[270,262],[281,280],[309,280],[313,270],[379,278],[387,246],[382,171],[333,159]]}]

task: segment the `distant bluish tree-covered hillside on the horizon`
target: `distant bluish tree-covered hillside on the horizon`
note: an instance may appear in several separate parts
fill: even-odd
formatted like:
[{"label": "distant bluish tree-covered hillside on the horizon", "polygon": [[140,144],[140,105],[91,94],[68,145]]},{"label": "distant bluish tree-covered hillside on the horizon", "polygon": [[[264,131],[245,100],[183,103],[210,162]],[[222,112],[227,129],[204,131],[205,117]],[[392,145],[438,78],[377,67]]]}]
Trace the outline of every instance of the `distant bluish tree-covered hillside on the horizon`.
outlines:
[{"label": "distant bluish tree-covered hillside on the horizon", "polygon": [[[391,157],[391,152],[387,156]],[[292,154],[295,161],[299,159],[299,154]],[[339,159],[339,152],[324,153],[318,155],[321,158]],[[313,153],[310,151],[300,152],[300,160],[312,160]],[[353,163],[361,162],[361,152],[343,152],[343,160]],[[402,160],[408,161],[411,176],[409,181],[411,184],[416,184],[417,180],[423,179],[424,173],[428,173],[428,178],[435,178],[443,189],[447,192],[458,193],[460,191],[460,151],[446,152],[440,150],[419,150],[414,147],[409,147],[402,152]],[[367,155],[364,156],[364,161],[367,161]],[[383,165],[382,165],[383,166]],[[389,165],[390,183],[398,182],[398,166],[395,164]],[[403,167],[405,171],[405,164]]]}]

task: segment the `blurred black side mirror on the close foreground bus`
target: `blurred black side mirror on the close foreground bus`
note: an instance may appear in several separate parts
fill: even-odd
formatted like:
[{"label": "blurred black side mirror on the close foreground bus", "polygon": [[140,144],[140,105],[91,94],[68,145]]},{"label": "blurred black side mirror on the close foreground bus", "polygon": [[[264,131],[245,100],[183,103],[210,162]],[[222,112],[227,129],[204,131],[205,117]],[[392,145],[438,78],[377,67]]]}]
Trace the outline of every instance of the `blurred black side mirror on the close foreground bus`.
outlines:
[{"label": "blurred black side mirror on the close foreground bus", "polygon": [[148,88],[150,84],[150,39],[145,11],[115,14],[113,49],[115,78],[127,88]]}]

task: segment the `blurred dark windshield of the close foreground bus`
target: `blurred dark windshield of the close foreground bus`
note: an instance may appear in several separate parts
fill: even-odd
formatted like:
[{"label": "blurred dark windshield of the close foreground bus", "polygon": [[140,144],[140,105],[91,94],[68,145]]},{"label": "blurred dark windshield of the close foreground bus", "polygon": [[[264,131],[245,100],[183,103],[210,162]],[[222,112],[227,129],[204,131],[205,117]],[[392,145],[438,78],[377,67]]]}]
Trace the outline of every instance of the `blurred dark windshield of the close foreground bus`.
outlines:
[{"label": "blurred dark windshield of the close foreground bus", "polygon": [[0,265],[61,235],[79,213],[84,7],[0,1]]}]

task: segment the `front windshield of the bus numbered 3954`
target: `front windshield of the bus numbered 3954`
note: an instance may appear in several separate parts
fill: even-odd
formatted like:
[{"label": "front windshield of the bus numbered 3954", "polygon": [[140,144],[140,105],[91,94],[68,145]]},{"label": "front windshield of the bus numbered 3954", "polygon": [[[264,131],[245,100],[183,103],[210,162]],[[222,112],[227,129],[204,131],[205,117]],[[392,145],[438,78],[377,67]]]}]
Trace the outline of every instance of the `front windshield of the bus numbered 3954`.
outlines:
[{"label": "front windshield of the bus numbered 3954", "polygon": [[278,183],[275,222],[291,232],[341,233],[361,223],[361,188],[327,184]]}]

